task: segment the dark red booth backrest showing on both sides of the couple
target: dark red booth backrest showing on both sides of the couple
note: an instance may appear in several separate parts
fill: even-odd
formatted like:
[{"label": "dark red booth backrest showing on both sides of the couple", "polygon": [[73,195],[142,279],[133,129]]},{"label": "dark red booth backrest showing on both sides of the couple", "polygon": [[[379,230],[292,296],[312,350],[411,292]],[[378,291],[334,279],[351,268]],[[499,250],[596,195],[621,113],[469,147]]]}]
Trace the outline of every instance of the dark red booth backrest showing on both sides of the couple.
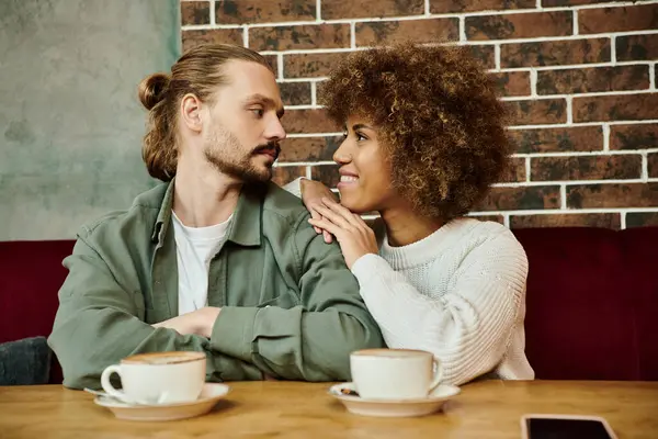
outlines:
[{"label": "dark red booth backrest showing on both sides of the couple", "polygon": [[[514,230],[537,379],[658,381],[658,227]],[[0,342],[47,336],[73,241],[0,243]],[[50,382],[61,382],[55,364]]]}]

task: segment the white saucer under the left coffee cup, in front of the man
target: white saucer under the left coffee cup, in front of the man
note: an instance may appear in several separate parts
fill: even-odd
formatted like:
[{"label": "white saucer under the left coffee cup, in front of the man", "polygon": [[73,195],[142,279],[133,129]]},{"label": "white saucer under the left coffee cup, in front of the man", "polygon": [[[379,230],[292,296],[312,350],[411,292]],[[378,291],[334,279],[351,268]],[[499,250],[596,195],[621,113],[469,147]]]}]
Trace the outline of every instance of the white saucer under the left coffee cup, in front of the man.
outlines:
[{"label": "white saucer under the left coffee cup, in front of the man", "polygon": [[205,383],[198,399],[190,403],[131,405],[111,396],[97,396],[95,404],[109,408],[120,419],[129,420],[175,420],[205,415],[219,399],[228,394],[226,384]]}]

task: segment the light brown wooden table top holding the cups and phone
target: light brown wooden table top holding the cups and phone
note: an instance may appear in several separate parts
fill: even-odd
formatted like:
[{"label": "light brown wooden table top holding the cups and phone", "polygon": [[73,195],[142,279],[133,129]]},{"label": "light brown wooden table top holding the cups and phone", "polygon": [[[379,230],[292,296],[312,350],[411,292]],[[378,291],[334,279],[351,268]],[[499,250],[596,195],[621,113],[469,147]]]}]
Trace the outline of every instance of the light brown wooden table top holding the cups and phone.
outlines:
[{"label": "light brown wooden table top holding the cups and phone", "polygon": [[368,418],[345,412],[328,383],[239,382],[208,415],[118,420],[93,396],[59,385],[0,387],[4,438],[519,438],[526,413],[599,415],[620,439],[658,438],[658,383],[486,381],[462,387],[444,413]]}]

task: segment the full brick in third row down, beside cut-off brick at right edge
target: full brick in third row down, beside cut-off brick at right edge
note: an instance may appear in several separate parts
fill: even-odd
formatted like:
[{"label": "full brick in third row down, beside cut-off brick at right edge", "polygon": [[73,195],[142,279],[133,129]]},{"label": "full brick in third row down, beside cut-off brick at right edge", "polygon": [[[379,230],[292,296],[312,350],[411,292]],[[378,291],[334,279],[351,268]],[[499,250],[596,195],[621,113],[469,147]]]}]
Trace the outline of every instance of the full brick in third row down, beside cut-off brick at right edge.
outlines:
[{"label": "full brick in third row down, beside cut-off brick at right edge", "polygon": [[532,67],[610,61],[610,38],[515,43],[500,46],[500,66]]}]

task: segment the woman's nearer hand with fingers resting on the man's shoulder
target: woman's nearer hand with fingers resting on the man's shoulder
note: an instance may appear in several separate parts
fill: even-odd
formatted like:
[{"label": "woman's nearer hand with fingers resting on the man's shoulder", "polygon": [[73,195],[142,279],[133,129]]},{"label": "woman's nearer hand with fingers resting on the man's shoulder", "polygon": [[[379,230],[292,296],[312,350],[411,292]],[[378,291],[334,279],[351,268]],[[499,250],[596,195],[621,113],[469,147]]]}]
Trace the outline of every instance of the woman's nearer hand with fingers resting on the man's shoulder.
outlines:
[{"label": "woman's nearer hand with fingers resting on the man's shoulder", "polygon": [[321,217],[319,219],[310,218],[308,222],[314,227],[319,227],[336,236],[350,269],[363,255],[378,252],[375,233],[361,216],[326,198],[314,209]]}]

